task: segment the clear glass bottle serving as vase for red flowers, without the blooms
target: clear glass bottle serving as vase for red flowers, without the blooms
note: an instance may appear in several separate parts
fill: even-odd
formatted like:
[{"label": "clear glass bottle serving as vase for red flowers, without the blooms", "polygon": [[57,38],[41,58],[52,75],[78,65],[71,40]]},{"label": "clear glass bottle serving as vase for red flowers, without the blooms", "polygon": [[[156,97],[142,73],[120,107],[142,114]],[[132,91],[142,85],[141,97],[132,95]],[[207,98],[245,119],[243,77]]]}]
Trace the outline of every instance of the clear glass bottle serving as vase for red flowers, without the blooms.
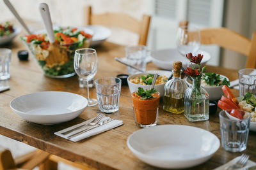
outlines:
[{"label": "clear glass bottle serving as vase for red flowers, without the blooms", "polygon": [[201,87],[200,78],[193,78],[185,92],[184,115],[189,122],[209,120],[209,94]]}]

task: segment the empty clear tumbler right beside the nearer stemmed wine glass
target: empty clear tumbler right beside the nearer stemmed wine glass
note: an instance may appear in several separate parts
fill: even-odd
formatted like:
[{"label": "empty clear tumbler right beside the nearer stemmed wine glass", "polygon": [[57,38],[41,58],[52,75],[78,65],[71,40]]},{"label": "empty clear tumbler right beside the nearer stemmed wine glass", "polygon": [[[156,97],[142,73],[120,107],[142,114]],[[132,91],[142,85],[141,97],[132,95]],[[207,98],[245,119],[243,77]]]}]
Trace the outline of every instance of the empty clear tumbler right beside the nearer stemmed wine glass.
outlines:
[{"label": "empty clear tumbler right beside the nearer stemmed wine glass", "polygon": [[99,110],[104,113],[113,113],[119,109],[121,79],[104,77],[95,80]]}]

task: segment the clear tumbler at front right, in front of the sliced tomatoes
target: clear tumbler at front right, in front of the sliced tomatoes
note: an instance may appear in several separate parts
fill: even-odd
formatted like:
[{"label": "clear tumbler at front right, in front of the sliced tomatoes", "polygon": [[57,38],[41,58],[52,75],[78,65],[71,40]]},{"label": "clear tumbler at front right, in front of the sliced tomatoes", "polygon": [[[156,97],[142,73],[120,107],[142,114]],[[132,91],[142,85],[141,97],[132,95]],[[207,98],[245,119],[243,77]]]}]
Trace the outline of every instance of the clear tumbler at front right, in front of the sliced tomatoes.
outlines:
[{"label": "clear tumbler at front right, in front of the sliced tomatoes", "polygon": [[251,116],[243,120],[231,120],[225,111],[220,112],[221,145],[230,152],[246,149]]}]

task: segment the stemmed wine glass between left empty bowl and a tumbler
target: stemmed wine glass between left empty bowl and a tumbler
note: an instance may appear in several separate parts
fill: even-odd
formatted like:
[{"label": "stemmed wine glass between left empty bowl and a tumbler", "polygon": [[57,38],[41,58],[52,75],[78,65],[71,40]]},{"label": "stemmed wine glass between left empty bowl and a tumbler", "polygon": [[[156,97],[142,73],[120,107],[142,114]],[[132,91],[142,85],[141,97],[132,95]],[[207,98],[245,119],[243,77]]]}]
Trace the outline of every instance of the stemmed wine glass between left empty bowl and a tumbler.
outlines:
[{"label": "stemmed wine glass between left empty bowl and a tumbler", "polygon": [[98,101],[97,99],[90,99],[88,81],[92,80],[97,73],[98,58],[96,50],[92,48],[76,50],[74,57],[74,69],[79,78],[83,78],[87,83],[88,106],[95,106]]}]

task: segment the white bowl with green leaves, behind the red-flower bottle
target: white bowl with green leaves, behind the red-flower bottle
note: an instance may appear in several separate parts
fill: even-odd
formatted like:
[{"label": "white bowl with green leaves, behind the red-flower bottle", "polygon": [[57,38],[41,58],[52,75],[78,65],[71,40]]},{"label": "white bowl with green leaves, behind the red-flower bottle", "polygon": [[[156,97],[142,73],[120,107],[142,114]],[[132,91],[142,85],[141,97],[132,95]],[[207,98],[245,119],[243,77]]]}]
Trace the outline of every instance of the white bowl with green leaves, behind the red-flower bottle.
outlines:
[{"label": "white bowl with green leaves, behind the red-flower bottle", "polygon": [[[188,77],[186,77],[185,81],[188,85],[192,85],[192,81]],[[226,76],[216,73],[204,73],[202,76],[201,86],[208,92],[210,101],[217,101],[223,96],[223,91],[221,90],[223,85],[230,85]]]}]

